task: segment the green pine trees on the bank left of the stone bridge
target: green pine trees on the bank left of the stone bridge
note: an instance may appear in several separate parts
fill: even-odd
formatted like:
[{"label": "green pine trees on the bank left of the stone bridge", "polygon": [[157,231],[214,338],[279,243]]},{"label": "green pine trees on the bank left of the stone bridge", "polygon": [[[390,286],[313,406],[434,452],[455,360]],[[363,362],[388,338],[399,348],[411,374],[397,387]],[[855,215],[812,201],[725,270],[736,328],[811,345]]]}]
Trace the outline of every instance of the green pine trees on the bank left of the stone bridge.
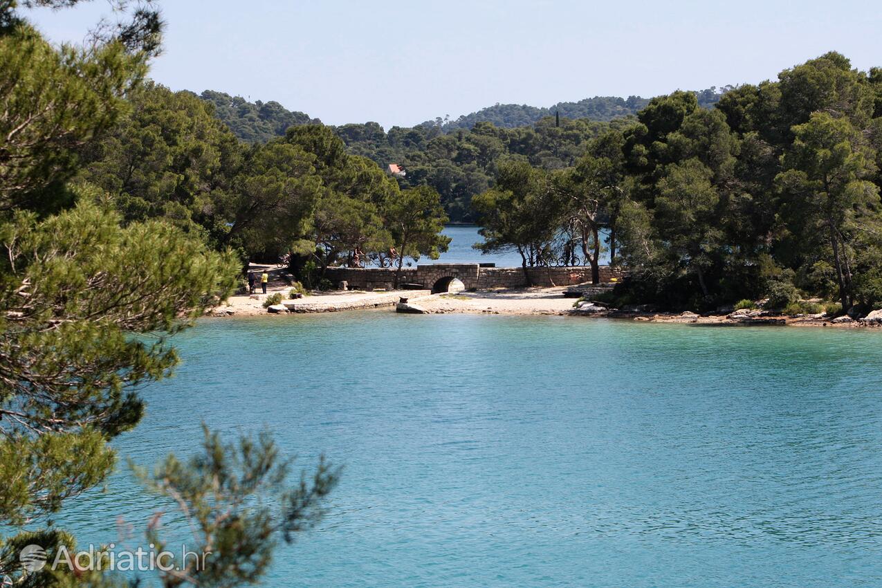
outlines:
[{"label": "green pine trees on the bank left of the stone bridge", "polygon": [[205,100],[149,81],[131,90],[129,105],[82,150],[78,175],[113,195],[126,222],[162,219],[243,259],[293,254],[309,286],[354,257],[389,264],[391,249],[401,262],[446,248],[437,192],[401,188],[348,153],[331,127],[294,125],[284,137],[246,143]]}]

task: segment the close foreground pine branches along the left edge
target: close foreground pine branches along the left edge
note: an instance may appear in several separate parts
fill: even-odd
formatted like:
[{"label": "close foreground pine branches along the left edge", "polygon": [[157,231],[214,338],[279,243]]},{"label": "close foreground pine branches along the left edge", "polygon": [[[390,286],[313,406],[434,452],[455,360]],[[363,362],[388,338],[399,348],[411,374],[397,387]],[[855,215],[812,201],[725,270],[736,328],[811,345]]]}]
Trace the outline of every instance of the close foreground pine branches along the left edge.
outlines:
[{"label": "close foreground pine branches along the left edge", "polygon": [[[169,374],[169,338],[230,294],[241,266],[210,204],[229,200],[233,178],[219,170],[238,169],[239,146],[201,100],[144,84],[161,22],[147,4],[128,14],[86,47],[56,48],[14,2],[0,7],[0,581],[17,586],[138,584],[28,571],[19,552],[37,545],[52,562],[76,551],[54,515],[108,480],[109,442],[145,411],[138,385]],[[290,461],[267,435],[231,445],[206,431],[203,451],[228,480],[226,502],[190,491],[206,480],[204,458],[172,456],[144,476],[204,515],[196,547],[216,556],[210,570],[164,573],[161,584],[252,584],[276,537],[321,516],[337,470],[322,463],[287,490]],[[252,508],[266,493],[282,500],[278,512]]]}]

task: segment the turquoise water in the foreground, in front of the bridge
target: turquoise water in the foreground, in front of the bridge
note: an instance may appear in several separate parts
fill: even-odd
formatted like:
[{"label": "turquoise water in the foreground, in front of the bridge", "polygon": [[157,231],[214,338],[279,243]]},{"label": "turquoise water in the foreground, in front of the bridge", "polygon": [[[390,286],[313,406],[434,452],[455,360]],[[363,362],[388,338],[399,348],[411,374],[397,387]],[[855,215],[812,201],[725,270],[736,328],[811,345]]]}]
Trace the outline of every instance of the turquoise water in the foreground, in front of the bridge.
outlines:
[{"label": "turquoise water in the foreground, in front of the bridge", "polygon": [[[177,345],[123,455],[205,420],[346,467],[267,586],[882,585],[878,331],[377,311]],[[58,523],[110,541],[153,510],[123,472]]]}]

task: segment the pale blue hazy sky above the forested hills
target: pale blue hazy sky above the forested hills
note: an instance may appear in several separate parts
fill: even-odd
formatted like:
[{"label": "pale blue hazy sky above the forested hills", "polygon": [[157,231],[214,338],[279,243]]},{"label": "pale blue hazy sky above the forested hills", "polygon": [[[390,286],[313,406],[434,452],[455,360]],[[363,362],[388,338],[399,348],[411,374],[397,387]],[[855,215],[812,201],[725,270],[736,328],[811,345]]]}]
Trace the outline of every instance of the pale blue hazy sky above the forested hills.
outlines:
[{"label": "pale blue hazy sky above the forested hills", "polygon": [[[835,49],[882,65],[878,0],[165,0],[151,76],[277,100],[325,123],[410,126],[496,102],[550,106],[759,82]],[[108,4],[31,11],[81,41]]]}]

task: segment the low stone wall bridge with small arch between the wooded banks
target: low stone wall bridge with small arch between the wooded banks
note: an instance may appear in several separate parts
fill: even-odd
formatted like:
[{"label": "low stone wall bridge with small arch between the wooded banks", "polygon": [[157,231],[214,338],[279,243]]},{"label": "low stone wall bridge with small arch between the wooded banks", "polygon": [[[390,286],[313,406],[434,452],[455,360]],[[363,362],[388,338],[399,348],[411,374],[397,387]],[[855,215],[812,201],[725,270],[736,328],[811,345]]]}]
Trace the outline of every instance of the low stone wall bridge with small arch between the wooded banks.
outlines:
[{"label": "low stone wall bridge with small arch between the wooded banks", "polygon": [[[587,265],[564,267],[527,268],[534,286],[572,286],[591,281],[591,268]],[[601,265],[601,282],[619,276],[609,265]],[[345,281],[355,290],[392,289],[395,269],[388,267],[329,267],[325,278],[336,286]],[[419,264],[401,268],[399,284],[413,284],[434,292],[447,292],[454,279],[459,279],[467,290],[483,290],[498,287],[525,287],[527,278],[523,268],[495,267],[493,264]]]}]

